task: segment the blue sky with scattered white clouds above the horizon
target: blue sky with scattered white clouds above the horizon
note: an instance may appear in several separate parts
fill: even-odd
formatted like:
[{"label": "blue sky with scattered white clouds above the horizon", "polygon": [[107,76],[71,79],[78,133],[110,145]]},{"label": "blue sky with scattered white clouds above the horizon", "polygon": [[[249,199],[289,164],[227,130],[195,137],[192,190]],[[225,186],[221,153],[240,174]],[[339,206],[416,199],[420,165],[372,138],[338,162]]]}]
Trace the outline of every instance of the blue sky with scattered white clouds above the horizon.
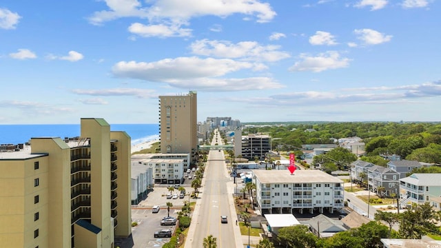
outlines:
[{"label": "blue sky with scattered white clouds above the horizon", "polygon": [[0,3],[0,123],[441,121],[440,0]]}]

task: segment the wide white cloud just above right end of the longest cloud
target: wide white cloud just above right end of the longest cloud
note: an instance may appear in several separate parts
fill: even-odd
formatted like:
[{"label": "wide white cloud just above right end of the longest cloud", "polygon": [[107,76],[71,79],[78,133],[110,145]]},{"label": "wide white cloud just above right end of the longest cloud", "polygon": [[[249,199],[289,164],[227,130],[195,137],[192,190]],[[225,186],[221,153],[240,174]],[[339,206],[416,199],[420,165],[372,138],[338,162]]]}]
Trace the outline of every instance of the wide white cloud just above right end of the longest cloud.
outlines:
[{"label": "wide white cloud just above right end of the longest cloud", "polygon": [[256,41],[210,41],[202,39],[190,45],[193,54],[216,56],[229,59],[244,59],[255,61],[279,61],[289,58],[287,52],[279,51],[278,45],[260,45]]}]

